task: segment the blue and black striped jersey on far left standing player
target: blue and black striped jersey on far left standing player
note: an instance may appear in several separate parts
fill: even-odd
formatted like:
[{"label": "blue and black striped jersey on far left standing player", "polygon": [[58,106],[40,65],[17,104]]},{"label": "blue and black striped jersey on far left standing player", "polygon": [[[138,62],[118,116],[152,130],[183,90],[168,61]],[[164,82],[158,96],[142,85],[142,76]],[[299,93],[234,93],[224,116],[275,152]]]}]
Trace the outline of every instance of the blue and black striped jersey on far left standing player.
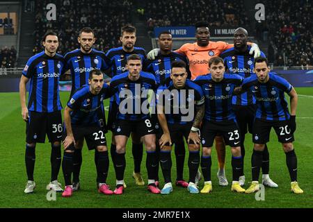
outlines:
[{"label": "blue and black striped jersey on far left standing player", "polygon": [[56,53],[54,57],[47,56],[45,51],[32,56],[22,74],[31,79],[29,85],[30,111],[55,112],[62,110],[58,82],[64,72],[64,58]]}]

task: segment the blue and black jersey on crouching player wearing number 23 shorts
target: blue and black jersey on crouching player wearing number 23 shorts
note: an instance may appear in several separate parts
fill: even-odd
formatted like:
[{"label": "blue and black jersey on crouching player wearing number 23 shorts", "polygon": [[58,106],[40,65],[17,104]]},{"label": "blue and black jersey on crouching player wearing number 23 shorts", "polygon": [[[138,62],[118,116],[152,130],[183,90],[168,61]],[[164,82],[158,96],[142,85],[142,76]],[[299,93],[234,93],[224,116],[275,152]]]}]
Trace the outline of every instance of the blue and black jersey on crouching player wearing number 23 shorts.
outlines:
[{"label": "blue and black jersey on crouching player wearing number 23 shorts", "polygon": [[204,119],[208,121],[225,121],[235,119],[232,110],[232,94],[234,88],[240,86],[243,78],[236,74],[224,74],[219,83],[211,78],[211,74],[198,76],[194,82],[202,87],[205,98]]}]

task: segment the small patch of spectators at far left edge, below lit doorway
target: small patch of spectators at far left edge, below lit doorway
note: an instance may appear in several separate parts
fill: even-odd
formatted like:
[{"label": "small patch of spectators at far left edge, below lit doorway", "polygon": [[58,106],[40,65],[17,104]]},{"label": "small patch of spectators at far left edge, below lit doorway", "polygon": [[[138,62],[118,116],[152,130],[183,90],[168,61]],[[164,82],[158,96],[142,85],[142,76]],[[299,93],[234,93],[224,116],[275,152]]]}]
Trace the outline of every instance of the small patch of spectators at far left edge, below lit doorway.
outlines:
[{"label": "small patch of spectators at far left edge, below lit doorway", "polygon": [[14,46],[0,49],[0,75],[6,74],[7,69],[16,67],[16,53]]}]

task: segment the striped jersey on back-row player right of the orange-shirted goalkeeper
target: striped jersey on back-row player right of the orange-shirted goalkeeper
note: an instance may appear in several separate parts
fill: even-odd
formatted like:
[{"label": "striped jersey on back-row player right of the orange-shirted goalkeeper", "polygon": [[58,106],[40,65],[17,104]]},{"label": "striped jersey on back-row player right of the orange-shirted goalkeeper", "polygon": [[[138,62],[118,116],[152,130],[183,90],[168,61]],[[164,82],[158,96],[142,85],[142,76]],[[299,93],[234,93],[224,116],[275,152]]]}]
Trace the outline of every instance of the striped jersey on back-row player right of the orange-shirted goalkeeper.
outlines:
[{"label": "striped jersey on back-row player right of the orange-shirted goalkeeper", "polygon": [[[255,58],[254,55],[250,55],[249,51],[251,46],[248,46],[248,49],[244,52],[236,50],[232,47],[223,51],[220,54],[220,57],[223,58],[225,62],[225,69],[230,74],[239,74],[243,78],[248,78],[253,73],[253,62]],[[266,57],[265,54],[261,51],[261,56]],[[238,96],[232,97],[233,105],[252,105],[255,104],[255,97],[251,92],[244,92]]]}]

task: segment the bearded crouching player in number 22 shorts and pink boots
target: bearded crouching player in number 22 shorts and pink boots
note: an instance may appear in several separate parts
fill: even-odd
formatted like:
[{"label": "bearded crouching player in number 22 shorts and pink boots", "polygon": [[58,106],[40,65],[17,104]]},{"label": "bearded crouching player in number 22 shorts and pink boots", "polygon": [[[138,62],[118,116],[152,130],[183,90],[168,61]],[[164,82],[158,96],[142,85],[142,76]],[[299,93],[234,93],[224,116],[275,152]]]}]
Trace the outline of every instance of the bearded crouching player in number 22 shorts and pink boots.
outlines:
[{"label": "bearded crouching player in number 22 shorts and pink boots", "polygon": [[[109,98],[109,85],[104,83],[102,71],[95,69],[90,72],[89,85],[83,85],[74,93],[64,110],[65,130],[63,133],[63,145],[65,148],[62,162],[65,191],[63,197],[72,196],[72,171],[74,146],[78,139],[85,137],[88,149],[96,148],[98,152],[96,162],[98,191],[106,195],[113,191],[106,185],[106,177],[109,171],[109,155],[106,147],[105,129],[102,128],[103,100]],[[103,110],[102,110],[103,111]]]}]

